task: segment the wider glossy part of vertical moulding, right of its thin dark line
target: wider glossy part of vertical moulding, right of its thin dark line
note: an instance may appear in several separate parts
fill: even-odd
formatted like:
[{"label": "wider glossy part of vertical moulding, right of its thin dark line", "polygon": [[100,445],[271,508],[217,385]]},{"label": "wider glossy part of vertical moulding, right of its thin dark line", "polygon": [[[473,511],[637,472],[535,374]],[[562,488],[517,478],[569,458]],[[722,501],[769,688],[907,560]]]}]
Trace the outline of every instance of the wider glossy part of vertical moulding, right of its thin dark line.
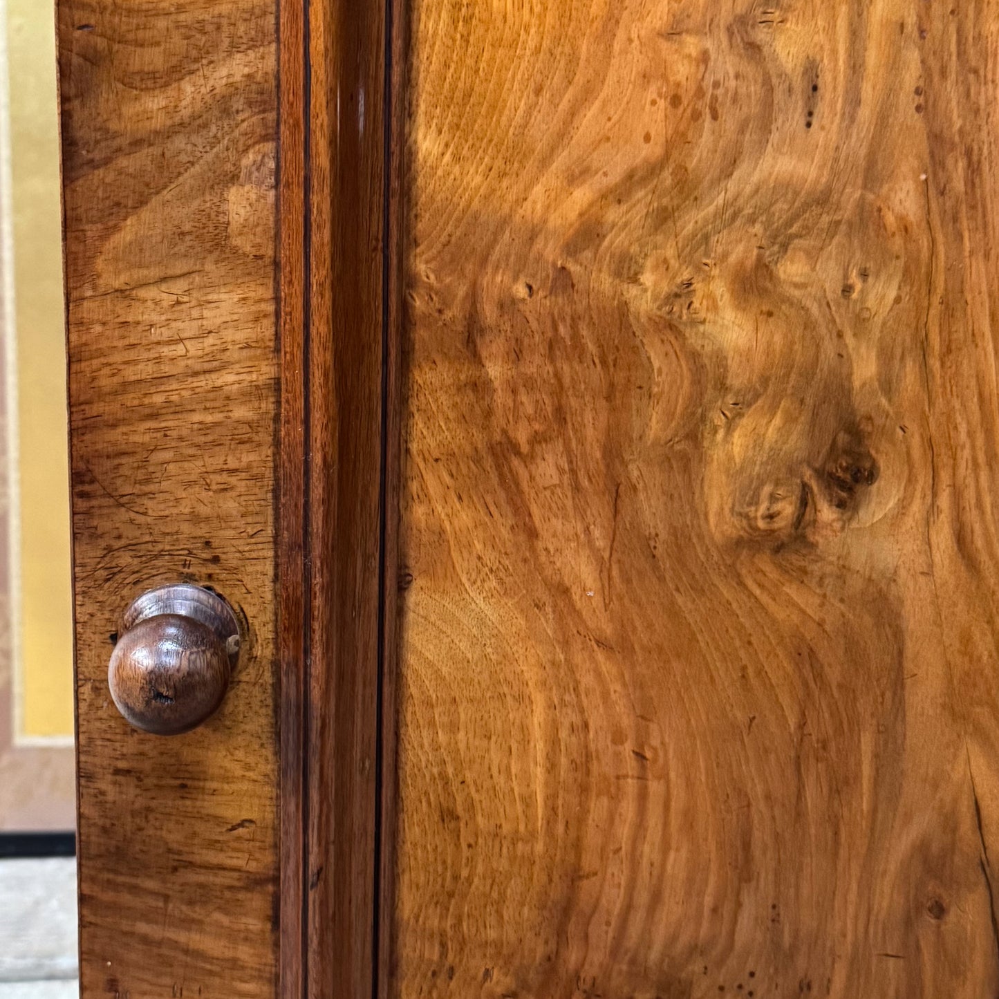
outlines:
[{"label": "wider glossy part of vertical moulding, right of its thin dark line", "polygon": [[[384,10],[312,6],[309,995],[374,960]],[[320,802],[322,801],[322,810]]]}]

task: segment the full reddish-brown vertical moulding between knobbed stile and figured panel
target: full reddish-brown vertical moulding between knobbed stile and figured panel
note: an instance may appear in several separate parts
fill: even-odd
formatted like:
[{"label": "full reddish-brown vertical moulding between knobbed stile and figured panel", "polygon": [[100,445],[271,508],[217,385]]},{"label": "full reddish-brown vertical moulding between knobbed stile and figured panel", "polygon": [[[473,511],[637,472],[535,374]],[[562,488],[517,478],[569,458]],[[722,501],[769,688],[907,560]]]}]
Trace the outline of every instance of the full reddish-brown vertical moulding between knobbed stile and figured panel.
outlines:
[{"label": "full reddish-brown vertical moulding between knobbed stile and figured panel", "polygon": [[381,3],[285,7],[283,988],[370,999],[388,413],[386,16]]}]

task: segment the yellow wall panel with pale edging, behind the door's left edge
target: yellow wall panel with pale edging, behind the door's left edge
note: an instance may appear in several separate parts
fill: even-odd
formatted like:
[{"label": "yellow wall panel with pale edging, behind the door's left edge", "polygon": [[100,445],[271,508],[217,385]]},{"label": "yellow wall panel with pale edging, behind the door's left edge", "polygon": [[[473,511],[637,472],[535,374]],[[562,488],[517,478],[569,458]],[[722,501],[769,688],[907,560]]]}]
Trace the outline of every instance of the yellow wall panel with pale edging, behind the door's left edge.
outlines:
[{"label": "yellow wall panel with pale edging, behind the door's left edge", "polygon": [[34,741],[73,733],[59,128],[52,5],[6,0],[6,15],[14,330],[4,332],[14,335],[8,358],[16,359],[16,386],[9,386],[17,399],[16,738]]}]

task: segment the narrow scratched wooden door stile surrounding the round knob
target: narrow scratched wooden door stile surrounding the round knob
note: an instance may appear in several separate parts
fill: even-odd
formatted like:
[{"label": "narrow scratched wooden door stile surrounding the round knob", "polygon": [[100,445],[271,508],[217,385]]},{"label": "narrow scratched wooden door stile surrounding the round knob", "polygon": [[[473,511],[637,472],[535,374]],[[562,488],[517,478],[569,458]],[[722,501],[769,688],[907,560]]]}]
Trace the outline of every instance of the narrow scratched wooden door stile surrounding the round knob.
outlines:
[{"label": "narrow scratched wooden door stile surrounding the round knob", "polygon": [[[83,995],[276,995],[275,5],[60,0]],[[145,588],[248,621],[218,714],[131,729]]]}]

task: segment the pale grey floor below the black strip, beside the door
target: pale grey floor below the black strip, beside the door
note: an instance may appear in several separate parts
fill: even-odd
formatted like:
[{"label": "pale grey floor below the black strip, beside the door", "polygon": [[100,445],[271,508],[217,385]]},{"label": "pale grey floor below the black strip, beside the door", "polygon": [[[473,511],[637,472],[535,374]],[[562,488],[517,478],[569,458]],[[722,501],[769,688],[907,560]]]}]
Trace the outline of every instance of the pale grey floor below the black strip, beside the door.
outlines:
[{"label": "pale grey floor below the black strip, beside the door", "polygon": [[0,999],[76,999],[76,860],[0,860]]}]

